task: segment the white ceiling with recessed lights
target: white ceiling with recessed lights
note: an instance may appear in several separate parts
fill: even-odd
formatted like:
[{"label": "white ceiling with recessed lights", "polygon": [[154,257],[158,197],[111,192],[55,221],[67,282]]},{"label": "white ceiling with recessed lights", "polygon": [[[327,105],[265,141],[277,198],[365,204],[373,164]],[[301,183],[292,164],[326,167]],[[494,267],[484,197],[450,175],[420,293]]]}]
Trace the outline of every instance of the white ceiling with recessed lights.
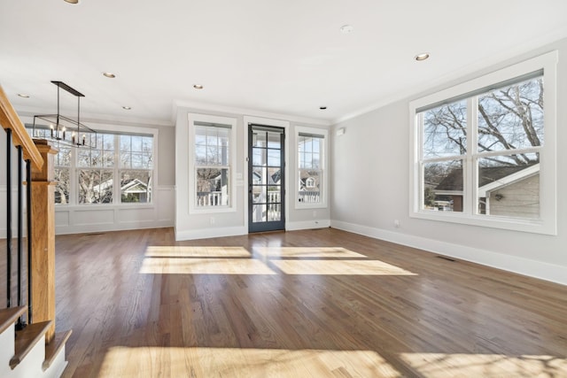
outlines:
[{"label": "white ceiling with recessed lights", "polygon": [[0,84],[32,114],[64,81],[83,119],[173,124],[197,104],[333,122],[566,37],[566,16],[565,0],[2,0]]}]

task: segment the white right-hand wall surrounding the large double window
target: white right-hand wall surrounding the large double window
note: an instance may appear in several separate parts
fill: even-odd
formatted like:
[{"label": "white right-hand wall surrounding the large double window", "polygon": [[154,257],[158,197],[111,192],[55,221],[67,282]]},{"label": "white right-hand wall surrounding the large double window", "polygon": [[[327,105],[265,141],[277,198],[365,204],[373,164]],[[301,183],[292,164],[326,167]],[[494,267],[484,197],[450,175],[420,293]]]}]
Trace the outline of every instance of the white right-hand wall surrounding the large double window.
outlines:
[{"label": "white right-hand wall surrounding the large double window", "polygon": [[[409,101],[550,50],[559,50],[558,235],[409,218]],[[333,130],[345,127],[346,132],[331,132],[331,226],[567,284],[566,79],[567,40],[562,40],[338,123]],[[400,228],[394,220],[399,220]]]}]

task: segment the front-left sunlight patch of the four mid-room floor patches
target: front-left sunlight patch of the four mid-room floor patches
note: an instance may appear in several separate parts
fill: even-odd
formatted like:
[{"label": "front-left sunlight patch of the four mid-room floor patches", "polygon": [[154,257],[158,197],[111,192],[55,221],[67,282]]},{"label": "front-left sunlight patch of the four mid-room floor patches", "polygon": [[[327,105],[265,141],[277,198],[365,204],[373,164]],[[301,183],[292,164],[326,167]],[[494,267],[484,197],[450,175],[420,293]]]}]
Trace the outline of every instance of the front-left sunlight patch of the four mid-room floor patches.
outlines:
[{"label": "front-left sunlight patch of the four mid-room floor patches", "polygon": [[144,258],[141,274],[276,274],[252,258]]}]

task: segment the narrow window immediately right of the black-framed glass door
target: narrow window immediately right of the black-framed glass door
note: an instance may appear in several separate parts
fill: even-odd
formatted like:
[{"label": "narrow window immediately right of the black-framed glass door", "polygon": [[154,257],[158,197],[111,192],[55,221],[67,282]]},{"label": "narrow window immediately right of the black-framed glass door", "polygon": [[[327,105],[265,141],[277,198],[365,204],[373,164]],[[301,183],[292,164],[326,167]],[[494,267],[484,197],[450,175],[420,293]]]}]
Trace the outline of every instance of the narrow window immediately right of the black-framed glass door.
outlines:
[{"label": "narrow window immediately right of the black-framed glass door", "polygon": [[298,197],[296,208],[324,207],[325,150],[327,130],[296,127],[298,149]]}]

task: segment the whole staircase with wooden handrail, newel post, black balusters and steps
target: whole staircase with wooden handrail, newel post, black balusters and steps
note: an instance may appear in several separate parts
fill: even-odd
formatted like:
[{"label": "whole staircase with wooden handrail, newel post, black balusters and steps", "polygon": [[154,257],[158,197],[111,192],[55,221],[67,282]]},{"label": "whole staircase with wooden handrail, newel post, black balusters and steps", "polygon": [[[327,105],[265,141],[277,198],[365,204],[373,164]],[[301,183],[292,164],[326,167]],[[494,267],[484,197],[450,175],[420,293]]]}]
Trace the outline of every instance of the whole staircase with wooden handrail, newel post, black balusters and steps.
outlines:
[{"label": "whole staircase with wooden handrail, newel post, black balusters and steps", "polygon": [[[4,275],[5,270],[6,285],[0,284],[0,289],[6,289],[7,298],[6,308],[4,305],[0,308],[0,377],[58,378],[66,367],[65,343],[71,331],[55,333],[55,182],[52,178],[53,156],[57,150],[46,141],[32,141],[1,87],[0,124],[7,142],[6,149],[2,149],[6,152],[7,194],[5,204],[0,204],[6,214],[6,260],[2,273]],[[12,241],[12,149],[18,152],[16,241]],[[27,173],[26,211],[23,210],[23,162]],[[27,217],[27,257],[23,253],[24,214]],[[14,264],[12,243],[18,250]],[[25,260],[27,268],[23,265]],[[14,270],[17,272],[16,301],[12,301]]]}]

